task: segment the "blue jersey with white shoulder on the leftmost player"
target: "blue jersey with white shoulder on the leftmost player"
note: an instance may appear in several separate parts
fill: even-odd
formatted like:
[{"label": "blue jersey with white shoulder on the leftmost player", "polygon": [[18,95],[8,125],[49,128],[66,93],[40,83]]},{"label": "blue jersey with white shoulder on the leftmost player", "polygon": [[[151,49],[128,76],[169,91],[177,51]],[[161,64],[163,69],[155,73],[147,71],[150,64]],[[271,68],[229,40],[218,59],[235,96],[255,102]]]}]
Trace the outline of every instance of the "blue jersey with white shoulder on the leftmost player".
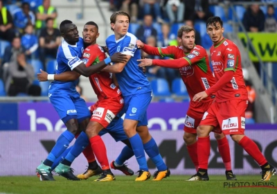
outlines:
[{"label": "blue jersey with white shoulder on the leftmost player", "polygon": [[[57,50],[57,64],[56,64],[56,74],[63,73],[65,71],[72,71],[75,67],[82,63],[80,58],[82,57],[82,52],[84,51],[84,43],[81,37],[79,37],[79,42],[75,45],[68,44],[65,40]],[[50,94],[64,94],[78,93],[75,89],[77,80],[70,82],[60,82],[53,81],[49,87]]]}]

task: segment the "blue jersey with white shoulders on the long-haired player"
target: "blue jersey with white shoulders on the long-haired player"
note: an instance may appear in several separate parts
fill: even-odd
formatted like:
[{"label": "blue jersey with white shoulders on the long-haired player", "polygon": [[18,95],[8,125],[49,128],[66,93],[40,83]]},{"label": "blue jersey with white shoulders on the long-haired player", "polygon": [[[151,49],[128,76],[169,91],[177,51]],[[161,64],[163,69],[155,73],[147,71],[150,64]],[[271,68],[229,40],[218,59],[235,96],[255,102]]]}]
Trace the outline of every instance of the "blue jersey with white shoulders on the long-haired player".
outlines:
[{"label": "blue jersey with white shoulders on the long-haired player", "polygon": [[116,79],[123,96],[143,94],[152,90],[148,78],[146,78],[142,68],[139,67],[139,62],[136,61],[141,59],[141,50],[136,46],[136,39],[136,36],[131,33],[127,33],[118,40],[116,40],[115,35],[110,35],[106,39],[110,55],[120,52],[132,56],[123,71],[116,73]]}]

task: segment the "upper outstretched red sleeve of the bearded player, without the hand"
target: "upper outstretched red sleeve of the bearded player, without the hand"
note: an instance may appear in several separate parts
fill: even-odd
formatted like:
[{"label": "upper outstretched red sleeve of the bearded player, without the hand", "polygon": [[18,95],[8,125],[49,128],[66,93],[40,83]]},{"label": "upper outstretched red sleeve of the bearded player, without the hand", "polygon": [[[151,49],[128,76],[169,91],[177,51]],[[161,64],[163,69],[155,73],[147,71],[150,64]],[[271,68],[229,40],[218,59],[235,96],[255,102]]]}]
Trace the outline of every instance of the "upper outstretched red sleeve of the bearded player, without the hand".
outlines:
[{"label": "upper outstretched red sleeve of the bearded player, without the hand", "polygon": [[167,46],[167,47],[161,48],[161,47],[153,47],[153,46],[144,44],[143,51],[145,53],[148,53],[148,55],[159,55],[162,57],[175,58],[174,48],[176,48],[176,46]]}]

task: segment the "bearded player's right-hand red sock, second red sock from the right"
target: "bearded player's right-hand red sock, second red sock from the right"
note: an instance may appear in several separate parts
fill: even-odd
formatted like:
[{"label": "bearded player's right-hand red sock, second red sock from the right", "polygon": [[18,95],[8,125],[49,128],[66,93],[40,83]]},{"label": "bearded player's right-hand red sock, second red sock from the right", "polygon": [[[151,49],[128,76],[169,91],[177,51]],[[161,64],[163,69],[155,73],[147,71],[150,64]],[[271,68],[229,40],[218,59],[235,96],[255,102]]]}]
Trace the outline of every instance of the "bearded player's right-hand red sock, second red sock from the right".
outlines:
[{"label": "bearded player's right-hand red sock, second red sock from the right", "polygon": [[230,147],[226,136],[224,136],[222,139],[218,139],[217,144],[226,170],[232,170]]}]

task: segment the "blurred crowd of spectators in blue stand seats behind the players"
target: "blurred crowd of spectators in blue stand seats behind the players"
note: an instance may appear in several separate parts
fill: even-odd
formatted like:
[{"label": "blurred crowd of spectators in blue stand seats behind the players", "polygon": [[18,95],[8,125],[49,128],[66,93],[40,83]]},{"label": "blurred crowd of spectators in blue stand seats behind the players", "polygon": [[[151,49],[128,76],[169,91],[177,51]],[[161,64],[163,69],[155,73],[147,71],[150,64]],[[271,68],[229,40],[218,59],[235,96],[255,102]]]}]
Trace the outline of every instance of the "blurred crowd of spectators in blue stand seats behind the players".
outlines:
[{"label": "blurred crowd of spectators in blue stand seats behind the players", "polygon": [[[213,15],[224,21],[225,31],[233,31],[233,14],[223,0],[108,0],[110,10],[124,10],[131,15],[129,32],[152,46],[177,45],[176,35],[186,24],[196,30],[195,44],[206,49],[212,45],[206,35],[206,19]],[[251,0],[248,0],[251,1]],[[247,1],[244,1],[247,2]],[[260,6],[235,6],[244,28],[252,33],[277,32],[277,9],[270,2]],[[57,28],[57,10],[51,0],[0,0],[0,87],[6,96],[47,96],[36,80],[39,69],[54,73],[57,48],[61,43]],[[208,52],[209,53],[209,52]],[[145,58],[157,56],[143,53]],[[177,69],[149,67],[148,78],[162,78],[171,90],[179,78]],[[82,92],[82,88],[80,92]],[[1,92],[0,92],[1,94]],[[3,96],[3,95],[2,95]]]}]

